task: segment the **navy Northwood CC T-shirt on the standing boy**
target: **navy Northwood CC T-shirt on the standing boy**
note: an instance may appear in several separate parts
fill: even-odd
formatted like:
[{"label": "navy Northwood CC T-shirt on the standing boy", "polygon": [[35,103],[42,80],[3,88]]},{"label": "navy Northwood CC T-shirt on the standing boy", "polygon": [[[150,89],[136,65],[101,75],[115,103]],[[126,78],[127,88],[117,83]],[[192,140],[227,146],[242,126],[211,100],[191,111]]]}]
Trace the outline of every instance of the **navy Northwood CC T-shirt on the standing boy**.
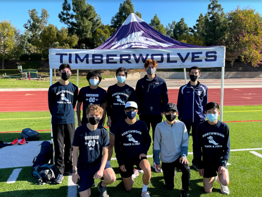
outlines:
[{"label": "navy Northwood CC T-shirt on the standing boy", "polygon": [[91,104],[98,104],[102,107],[102,103],[106,103],[107,91],[101,87],[91,89],[90,86],[86,86],[80,89],[77,101],[83,103],[83,117],[82,124],[87,123],[86,108]]}]

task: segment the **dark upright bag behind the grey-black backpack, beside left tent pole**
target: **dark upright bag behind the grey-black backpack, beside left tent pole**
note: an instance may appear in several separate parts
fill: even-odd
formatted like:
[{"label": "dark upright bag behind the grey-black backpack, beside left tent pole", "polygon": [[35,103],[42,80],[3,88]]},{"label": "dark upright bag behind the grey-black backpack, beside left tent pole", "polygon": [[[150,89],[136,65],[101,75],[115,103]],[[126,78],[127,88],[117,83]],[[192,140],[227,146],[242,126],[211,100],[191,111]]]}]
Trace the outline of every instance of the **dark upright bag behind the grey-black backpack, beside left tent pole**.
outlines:
[{"label": "dark upright bag behind the grey-black backpack, beside left tent pole", "polygon": [[53,156],[53,147],[52,144],[48,141],[43,141],[39,154],[33,159],[32,171],[36,166],[43,166],[44,164],[49,163]]}]

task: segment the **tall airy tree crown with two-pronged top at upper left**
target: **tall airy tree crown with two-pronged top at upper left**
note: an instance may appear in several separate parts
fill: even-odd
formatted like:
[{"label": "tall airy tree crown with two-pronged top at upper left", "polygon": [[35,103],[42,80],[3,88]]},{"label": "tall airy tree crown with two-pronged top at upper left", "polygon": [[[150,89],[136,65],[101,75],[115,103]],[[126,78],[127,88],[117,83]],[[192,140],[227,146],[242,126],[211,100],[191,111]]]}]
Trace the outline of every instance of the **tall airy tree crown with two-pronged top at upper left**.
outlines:
[{"label": "tall airy tree crown with two-pronged top at upper left", "polygon": [[48,24],[49,14],[46,9],[41,9],[41,15],[38,16],[36,9],[28,10],[30,19],[24,24],[24,28],[31,34],[31,39],[38,36]]}]

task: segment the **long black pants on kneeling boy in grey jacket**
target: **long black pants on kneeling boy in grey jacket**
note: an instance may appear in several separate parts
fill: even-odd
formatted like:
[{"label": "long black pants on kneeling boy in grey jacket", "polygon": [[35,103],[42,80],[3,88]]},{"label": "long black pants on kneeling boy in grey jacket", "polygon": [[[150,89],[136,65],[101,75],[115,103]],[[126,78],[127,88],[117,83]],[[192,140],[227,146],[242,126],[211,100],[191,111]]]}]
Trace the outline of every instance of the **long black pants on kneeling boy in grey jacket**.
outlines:
[{"label": "long black pants on kneeling boy in grey jacket", "polygon": [[180,157],[173,161],[172,163],[164,163],[162,162],[162,170],[164,174],[164,181],[166,184],[167,190],[173,190],[174,189],[174,173],[175,168],[178,168],[179,170],[182,170],[182,188],[187,191],[189,187],[189,180],[190,180],[190,168],[188,164],[180,163],[179,162]]}]

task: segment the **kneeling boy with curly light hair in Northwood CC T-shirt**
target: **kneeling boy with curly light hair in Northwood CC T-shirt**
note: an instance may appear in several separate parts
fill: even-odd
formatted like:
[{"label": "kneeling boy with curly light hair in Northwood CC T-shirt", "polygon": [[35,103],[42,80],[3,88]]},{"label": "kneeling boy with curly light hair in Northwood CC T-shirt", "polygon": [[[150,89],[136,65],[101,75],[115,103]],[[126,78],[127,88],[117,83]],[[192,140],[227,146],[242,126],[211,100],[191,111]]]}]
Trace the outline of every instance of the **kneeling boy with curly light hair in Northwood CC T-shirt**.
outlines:
[{"label": "kneeling boy with curly light hair in Northwood CC T-shirt", "polygon": [[[115,182],[114,170],[107,164],[109,138],[107,130],[98,123],[103,109],[95,104],[86,108],[88,123],[75,130],[73,140],[73,177],[78,182],[80,197],[89,197],[95,179],[103,179],[97,188],[101,197],[109,197],[106,186]],[[79,156],[78,156],[79,150]],[[103,152],[103,155],[102,155]]]}]

